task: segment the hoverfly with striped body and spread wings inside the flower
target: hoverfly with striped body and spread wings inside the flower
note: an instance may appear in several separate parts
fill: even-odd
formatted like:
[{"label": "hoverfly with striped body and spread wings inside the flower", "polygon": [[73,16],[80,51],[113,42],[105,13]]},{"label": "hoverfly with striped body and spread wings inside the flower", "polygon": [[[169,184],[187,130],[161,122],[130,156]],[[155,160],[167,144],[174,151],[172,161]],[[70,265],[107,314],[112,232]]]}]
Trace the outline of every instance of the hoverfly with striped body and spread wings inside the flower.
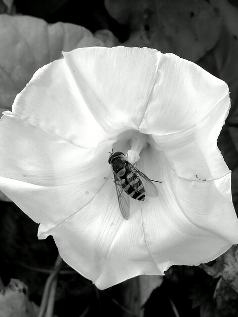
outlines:
[{"label": "hoverfly with striped body and spread wings inside the flower", "polygon": [[123,152],[109,152],[108,163],[114,176],[114,183],[121,213],[125,219],[130,216],[130,197],[144,201],[145,196],[157,197],[158,190],[145,174],[132,165]]}]

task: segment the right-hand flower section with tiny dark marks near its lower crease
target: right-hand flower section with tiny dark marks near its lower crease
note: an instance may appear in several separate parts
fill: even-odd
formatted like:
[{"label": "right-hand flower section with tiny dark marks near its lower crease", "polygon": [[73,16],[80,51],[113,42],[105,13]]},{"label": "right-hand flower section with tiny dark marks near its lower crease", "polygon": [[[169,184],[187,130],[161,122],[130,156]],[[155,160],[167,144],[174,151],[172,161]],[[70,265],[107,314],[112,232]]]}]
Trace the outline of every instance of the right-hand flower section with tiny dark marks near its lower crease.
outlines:
[{"label": "right-hand flower section with tiny dark marks near its lower crease", "polygon": [[195,126],[177,133],[152,136],[178,176],[208,181],[229,173],[217,147],[217,138],[225,122],[229,104],[227,96]]}]

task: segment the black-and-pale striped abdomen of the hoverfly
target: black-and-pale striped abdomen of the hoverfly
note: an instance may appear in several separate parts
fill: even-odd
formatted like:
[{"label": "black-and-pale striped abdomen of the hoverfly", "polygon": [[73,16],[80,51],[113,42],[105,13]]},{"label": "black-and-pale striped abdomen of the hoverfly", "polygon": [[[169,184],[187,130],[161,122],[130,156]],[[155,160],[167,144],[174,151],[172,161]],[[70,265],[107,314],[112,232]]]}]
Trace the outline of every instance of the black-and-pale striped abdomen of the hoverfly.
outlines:
[{"label": "black-and-pale striped abdomen of the hoverfly", "polygon": [[128,166],[122,168],[116,175],[118,182],[129,196],[138,201],[145,200],[145,189],[142,181]]}]

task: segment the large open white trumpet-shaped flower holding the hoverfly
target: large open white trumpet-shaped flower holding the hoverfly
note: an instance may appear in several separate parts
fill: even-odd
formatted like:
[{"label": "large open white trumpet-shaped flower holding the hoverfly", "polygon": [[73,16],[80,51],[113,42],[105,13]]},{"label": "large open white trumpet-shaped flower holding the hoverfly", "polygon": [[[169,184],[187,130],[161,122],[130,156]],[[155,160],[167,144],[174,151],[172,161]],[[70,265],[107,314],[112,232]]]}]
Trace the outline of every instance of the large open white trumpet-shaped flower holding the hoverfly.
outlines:
[{"label": "large open white trumpet-shaped flower holding the hoverfly", "polygon": [[[217,137],[227,85],[173,54],[82,48],[39,69],[0,124],[0,189],[52,234],[62,258],[100,289],[238,243],[230,171]],[[163,181],[120,212],[111,149]]]}]

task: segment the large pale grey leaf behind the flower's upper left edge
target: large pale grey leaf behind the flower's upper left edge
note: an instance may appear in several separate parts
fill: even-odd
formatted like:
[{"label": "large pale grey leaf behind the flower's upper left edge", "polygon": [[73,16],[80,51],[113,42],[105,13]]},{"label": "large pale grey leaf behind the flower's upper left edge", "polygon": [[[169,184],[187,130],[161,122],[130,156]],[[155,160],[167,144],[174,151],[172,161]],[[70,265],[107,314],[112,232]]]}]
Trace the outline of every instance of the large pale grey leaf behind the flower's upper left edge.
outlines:
[{"label": "large pale grey leaf behind the flower's upper left edge", "polygon": [[0,113],[43,65],[61,57],[62,51],[104,44],[84,27],[69,23],[47,24],[28,16],[0,15]]}]

